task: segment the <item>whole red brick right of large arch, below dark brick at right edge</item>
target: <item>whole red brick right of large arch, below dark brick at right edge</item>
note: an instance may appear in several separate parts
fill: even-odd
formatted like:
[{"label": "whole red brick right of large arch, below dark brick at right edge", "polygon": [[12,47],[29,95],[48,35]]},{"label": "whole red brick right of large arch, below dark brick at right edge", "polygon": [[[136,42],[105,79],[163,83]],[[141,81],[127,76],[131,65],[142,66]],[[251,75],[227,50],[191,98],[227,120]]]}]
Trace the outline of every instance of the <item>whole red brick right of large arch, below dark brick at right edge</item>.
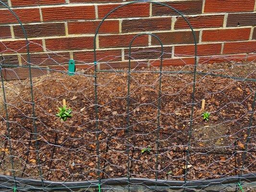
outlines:
[{"label": "whole red brick right of large arch, below dark brick at right edge", "polygon": [[203,31],[202,41],[238,41],[248,40],[251,28],[219,29]]}]

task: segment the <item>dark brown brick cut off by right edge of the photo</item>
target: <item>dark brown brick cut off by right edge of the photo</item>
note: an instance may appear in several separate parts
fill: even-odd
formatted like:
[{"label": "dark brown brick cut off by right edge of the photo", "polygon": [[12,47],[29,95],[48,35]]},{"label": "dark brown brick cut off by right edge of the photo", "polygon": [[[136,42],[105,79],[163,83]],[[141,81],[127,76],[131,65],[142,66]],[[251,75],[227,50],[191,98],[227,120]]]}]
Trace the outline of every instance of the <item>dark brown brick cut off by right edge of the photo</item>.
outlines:
[{"label": "dark brown brick cut off by right edge of the photo", "polygon": [[256,13],[229,14],[227,26],[255,26]]}]

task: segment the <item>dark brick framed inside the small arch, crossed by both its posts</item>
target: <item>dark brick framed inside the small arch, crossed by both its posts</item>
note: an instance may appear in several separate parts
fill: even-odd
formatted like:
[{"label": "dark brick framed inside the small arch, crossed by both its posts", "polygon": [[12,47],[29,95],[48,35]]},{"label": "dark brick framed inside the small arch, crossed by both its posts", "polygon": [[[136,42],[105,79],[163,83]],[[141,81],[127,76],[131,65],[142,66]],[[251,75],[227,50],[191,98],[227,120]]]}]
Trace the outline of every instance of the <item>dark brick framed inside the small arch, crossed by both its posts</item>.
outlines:
[{"label": "dark brick framed inside the small arch, crossed by both its posts", "polygon": [[[129,60],[129,49],[125,49],[125,60]],[[132,48],[131,60],[158,59],[161,57],[161,48]],[[171,47],[164,47],[163,59],[171,58]]]}]

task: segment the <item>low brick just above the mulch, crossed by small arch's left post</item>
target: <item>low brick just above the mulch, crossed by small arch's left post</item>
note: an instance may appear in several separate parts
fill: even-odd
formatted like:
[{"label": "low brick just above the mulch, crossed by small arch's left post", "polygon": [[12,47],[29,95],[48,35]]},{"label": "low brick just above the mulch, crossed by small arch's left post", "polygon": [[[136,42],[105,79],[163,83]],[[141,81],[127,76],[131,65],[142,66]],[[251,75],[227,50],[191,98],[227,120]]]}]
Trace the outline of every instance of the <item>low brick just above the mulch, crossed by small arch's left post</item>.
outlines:
[{"label": "low brick just above the mulch, crossed by small arch's left post", "polygon": [[[128,67],[129,67],[128,61],[109,62],[109,63],[100,64],[100,69],[123,69]],[[147,60],[131,61],[131,69],[139,69],[142,67],[147,67]]]}]

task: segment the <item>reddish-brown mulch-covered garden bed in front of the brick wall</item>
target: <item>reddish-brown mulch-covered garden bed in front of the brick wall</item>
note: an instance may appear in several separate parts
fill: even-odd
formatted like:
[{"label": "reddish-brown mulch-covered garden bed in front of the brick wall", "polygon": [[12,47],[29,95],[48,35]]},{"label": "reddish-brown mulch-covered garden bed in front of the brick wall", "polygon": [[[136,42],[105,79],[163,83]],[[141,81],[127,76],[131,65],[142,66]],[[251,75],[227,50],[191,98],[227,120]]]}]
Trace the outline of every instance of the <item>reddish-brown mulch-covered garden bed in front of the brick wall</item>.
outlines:
[{"label": "reddish-brown mulch-covered garden bed in front of the brick wall", "polygon": [[[255,69],[254,63],[222,63],[199,65],[197,71],[256,79]],[[92,72],[80,71],[81,75],[74,76],[59,72],[33,78],[37,142],[29,81],[5,82],[15,175],[34,179],[42,175],[54,181],[94,180],[98,178],[98,160],[101,178],[126,177],[128,172],[131,177],[150,179],[155,179],[157,172],[158,179],[169,180],[239,174],[256,82],[198,74],[189,140],[193,74],[178,72],[193,72],[193,66],[164,67],[163,71],[177,73],[162,75],[159,129],[159,73],[132,73],[127,126],[127,73],[98,72],[98,150],[94,78],[85,76]],[[65,122],[55,116],[63,99],[73,109],[73,117]],[[203,99],[204,111],[211,113],[208,122],[201,116]],[[12,175],[2,100],[0,111],[0,174]],[[244,173],[256,172],[255,118]],[[142,154],[147,146],[152,150]],[[186,162],[188,172],[184,169]]]}]

